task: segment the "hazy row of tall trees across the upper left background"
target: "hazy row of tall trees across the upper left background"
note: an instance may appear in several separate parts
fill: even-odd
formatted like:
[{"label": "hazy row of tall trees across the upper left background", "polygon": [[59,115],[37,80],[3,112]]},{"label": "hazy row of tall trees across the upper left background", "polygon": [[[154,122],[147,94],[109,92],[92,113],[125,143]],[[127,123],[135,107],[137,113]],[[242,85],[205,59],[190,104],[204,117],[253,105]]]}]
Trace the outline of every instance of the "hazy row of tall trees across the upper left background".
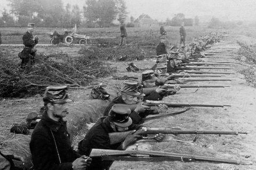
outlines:
[{"label": "hazy row of tall trees across the upper left background", "polygon": [[[85,0],[83,4],[63,5],[62,0],[8,0],[10,11],[2,11],[3,27],[109,27],[114,20],[125,17],[123,0]],[[81,5],[84,5],[82,8]]]}]

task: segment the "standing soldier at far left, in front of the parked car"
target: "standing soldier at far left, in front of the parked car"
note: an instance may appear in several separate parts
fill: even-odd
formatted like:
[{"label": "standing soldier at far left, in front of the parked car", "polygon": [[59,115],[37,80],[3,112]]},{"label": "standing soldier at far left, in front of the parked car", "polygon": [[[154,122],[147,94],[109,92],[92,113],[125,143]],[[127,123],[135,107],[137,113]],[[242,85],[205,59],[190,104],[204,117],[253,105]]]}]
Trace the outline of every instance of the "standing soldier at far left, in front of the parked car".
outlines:
[{"label": "standing soldier at far left, in front of the parked car", "polygon": [[21,61],[22,68],[35,63],[36,49],[34,47],[38,43],[38,37],[33,35],[34,27],[35,23],[28,23],[28,30],[22,37],[23,44],[25,45]]}]

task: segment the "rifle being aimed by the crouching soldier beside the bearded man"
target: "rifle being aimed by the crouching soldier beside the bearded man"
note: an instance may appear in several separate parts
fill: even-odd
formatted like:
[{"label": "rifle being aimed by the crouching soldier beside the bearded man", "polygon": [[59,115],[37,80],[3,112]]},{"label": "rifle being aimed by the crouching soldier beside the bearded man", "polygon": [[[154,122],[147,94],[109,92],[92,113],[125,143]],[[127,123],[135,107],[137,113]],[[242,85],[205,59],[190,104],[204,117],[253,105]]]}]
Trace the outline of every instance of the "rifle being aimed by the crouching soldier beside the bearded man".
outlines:
[{"label": "rifle being aimed by the crouching soldier beside the bearded man", "polygon": [[[109,141],[110,144],[116,144],[123,142],[125,138],[131,134],[132,131],[126,131],[126,132],[112,132],[109,133]],[[173,129],[173,128],[165,128],[165,129],[147,129],[147,128],[142,128],[132,134],[137,134],[137,135],[148,135],[148,134],[213,134],[213,135],[238,135],[238,134],[248,134],[249,132],[238,132],[238,131],[197,131],[197,130],[181,130],[181,129]],[[143,137],[145,138],[145,137]],[[147,138],[147,137],[146,137]]]}]

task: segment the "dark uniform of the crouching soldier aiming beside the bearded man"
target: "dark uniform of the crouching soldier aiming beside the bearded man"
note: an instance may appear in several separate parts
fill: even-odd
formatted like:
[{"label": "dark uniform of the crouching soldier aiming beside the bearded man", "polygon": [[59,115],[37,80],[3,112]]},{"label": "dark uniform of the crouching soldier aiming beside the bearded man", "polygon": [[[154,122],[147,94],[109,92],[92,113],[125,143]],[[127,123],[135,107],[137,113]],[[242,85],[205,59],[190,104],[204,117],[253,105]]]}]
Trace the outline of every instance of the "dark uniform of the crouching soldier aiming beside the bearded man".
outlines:
[{"label": "dark uniform of the crouching soldier aiming beside the bearded man", "polygon": [[[129,131],[138,130],[141,126],[139,125],[130,125]],[[113,150],[122,150],[121,144],[122,142],[116,144],[110,144],[109,133],[115,132],[114,129],[110,126],[109,117],[101,117],[98,121],[90,128],[89,132],[87,132],[84,140],[79,142],[78,150],[82,155],[89,156],[91,149],[113,149]],[[109,169],[113,161],[109,160],[101,160],[101,158],[93,158],[92,163],[89,169]]]}]

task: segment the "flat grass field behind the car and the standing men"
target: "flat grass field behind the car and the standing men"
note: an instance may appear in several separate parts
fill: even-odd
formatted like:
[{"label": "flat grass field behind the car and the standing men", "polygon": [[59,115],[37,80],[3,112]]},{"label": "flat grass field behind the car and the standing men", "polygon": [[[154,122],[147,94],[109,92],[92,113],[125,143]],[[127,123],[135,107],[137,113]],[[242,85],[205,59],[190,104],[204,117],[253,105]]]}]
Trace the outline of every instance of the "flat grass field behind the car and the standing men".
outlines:
[{"label": "flat grass field behind the car and the standing men", "polygon": [[[38,35],[39,44],[47,44],[50,41],[50,33],[54,31],[55,28],[35,28],[35,35]],[[61,32],[63,28],[59,28]],[[71,30],[71,29],[69,29]],[[158,39],[155,37],[159,36],[159,28],[126,28],[128,38],[127,42],[143,42],[147,39],[154,37],[153,42],[157,43]],[[167,31],[167,39],[170,44],[179,43],[179,27],[165,27]],[[22,44],[22,35],[26,32],[26,28],[0,28],[2,33],[2,44]],[[198,37],[214,31],[213,29],[208,29],[204,27],[186,27],[187,37],[186,41],[189,43],[192,41],[193,37]],[[116,41],[119,41],[120,30],[119,27],[110,28],[77,28],[79,34],[85,34],[91,36],[91,38],[100,37],[115,37]],[[94,41],[95,42],[95,41]]]}]

